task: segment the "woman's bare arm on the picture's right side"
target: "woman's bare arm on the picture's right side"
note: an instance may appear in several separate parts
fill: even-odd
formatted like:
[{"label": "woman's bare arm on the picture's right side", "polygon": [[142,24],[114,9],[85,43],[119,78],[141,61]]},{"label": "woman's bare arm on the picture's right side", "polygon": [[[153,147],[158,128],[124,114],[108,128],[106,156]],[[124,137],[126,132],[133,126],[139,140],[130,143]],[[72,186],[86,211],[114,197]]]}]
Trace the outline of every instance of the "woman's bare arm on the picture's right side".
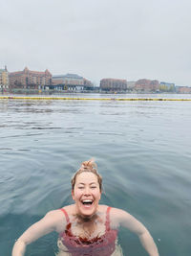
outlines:
[{"label": "woman's bare arm on the picture's right side", "polygon": [[119,224],[138,235],[140,243],[148,254],[150,256],[159,256],[158,247],[146,227],[127,212],[115,208],[113,209],[114,217],[117,217]]}]

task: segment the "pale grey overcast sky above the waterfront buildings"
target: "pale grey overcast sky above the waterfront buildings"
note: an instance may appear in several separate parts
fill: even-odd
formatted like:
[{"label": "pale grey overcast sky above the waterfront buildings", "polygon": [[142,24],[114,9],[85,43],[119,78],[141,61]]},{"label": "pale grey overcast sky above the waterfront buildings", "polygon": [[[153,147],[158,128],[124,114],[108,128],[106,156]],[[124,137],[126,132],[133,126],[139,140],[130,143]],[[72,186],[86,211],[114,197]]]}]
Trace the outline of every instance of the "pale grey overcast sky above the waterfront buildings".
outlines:
[{"label": "pale grey overcast sky above the waterfront buildings", "polygon": [[191,86],[190,0],[0,0],[0,68]]}]

